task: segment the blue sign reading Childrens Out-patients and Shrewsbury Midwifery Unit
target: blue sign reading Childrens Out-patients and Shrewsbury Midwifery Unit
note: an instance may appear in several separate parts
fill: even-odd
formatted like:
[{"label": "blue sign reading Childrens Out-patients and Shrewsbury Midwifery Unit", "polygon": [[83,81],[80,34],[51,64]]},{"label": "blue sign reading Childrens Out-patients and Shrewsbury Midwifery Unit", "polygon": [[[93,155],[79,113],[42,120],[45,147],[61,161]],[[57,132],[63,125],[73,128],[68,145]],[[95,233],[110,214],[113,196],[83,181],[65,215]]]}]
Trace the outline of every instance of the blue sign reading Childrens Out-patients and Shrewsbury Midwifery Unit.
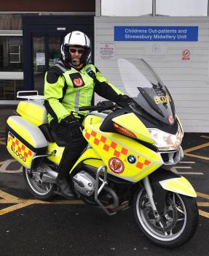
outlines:
[{"label": "blue sign reading Childrens Out-patients and Shrewsbury Midwifery Unit", "polygon": [[198,26],[114,26],[114,41],[198,41]]}]

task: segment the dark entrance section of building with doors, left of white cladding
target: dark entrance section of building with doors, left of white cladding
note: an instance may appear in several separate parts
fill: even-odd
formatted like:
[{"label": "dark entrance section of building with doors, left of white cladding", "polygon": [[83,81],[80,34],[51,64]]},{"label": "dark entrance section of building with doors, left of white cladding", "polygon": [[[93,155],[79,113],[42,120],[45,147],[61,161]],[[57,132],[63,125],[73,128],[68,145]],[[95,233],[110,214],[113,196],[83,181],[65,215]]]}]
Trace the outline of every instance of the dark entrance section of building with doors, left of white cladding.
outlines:
[{"label": "dark entrance section of building with doors, left of white cladding", "polygon": [[94,42],[94,16],[92,0],[1,1],[0,102],[14,100],[19,90],[42,94],[44,73],[60,58],[65,34],[82,30]]}]

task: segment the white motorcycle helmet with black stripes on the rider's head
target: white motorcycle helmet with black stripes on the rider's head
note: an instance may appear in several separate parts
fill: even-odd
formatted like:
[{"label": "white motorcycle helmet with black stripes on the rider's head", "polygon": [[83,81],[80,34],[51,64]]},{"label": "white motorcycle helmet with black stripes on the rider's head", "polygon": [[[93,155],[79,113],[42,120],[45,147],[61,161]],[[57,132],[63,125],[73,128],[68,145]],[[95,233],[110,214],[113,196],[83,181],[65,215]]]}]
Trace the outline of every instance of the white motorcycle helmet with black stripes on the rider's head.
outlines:
[{"label": "white motorcycle helmet with black stripes on the rider's head", "polygon": [[69,46],[83,47],[84,53],[82,53],[80,61],[83,64],[87,64],[87,62],[90,59],[90,53],[91,53],[91,45],[90,45],[89,37],[87,37],[87,35],[81,31],[72,31],[71,33],[66,34],[60,49],[63,61],[65,62],[71,62],[71,54],[69,53]]}]

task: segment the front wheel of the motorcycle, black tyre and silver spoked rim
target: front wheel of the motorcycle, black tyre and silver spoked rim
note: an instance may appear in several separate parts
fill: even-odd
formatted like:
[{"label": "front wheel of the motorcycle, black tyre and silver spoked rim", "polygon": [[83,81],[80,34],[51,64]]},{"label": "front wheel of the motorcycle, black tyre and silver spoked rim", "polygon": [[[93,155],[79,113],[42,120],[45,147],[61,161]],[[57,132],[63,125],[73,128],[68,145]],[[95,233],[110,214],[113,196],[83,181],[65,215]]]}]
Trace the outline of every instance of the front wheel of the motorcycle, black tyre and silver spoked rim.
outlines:
[{"label": "front wheel of the motorcycle, black tyre and silver spoked rim", "polygon": [[133,198],[135,220],[154,244],[173,248],[186,243],[195,233],[198,209],[193,197],[167,192],[164,213],[160,220],[154,213],[145,189],[135,192]]}]

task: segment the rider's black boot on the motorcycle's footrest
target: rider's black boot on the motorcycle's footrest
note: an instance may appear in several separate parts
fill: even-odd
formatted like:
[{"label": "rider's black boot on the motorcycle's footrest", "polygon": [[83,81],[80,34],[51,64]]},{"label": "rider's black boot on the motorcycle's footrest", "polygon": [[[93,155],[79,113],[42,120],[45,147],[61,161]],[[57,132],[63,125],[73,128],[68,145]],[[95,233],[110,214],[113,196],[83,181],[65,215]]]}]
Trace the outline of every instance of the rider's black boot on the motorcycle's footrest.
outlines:
[{"label": "rider's black boot on the motorcycle's footrest", "polygon": [[67,199],[76,198],[76,193],[74,191],[74,184],[71,181],[70,176],[63,176],[62,174],[58,173],[58,177],[56,178],[56,182],[60,191]]}]

